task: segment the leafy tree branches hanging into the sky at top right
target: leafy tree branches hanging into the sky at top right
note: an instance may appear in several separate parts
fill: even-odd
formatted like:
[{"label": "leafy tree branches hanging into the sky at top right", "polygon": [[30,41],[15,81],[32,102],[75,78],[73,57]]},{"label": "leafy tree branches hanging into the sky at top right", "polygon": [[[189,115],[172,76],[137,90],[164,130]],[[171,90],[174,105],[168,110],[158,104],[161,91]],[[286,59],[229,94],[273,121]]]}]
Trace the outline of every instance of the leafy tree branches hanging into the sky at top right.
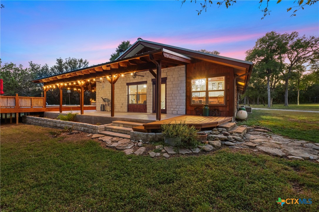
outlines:
[{"label": "leafy tree branches hanging into the sky at top right", "polygon": [[[268,4],[269,4],[269,1],[270,0],[260,0],[260,4],[259,4],[259,9],[261,9],[261,11],[263,12],[263,17],[261,19],[263,19],[265,16],[267,15],[270,15],[270,12],[271,10],[268,9]],[[182,0],[182,5],[183,3],[185,3],[186,0]],[[191,0],[190,1],[191,3],[192,2],[195,2],[197,3],[197,1],[193,1]],[[226,6],[226,8],[234,5],[234,3],[236,3],[237,1],[236,0],[222,0],[222,1],[217,1],[217,5],[218,7],[220,7],[221,5],[224,5]],[[281,0],[278,0],[277,1],[277,4],[280,3]],[[293,14],[291,16],[296,16],[296,12],[300,9],[304,10],[305,6],[310,6],[310,5],[313,5],[315,3],[317,3],[318,0],[306,0],[306,1],[303,1],[303,0],[298,0],[297,1],[293,1],[293,6],[287,8],[287,12],[289,11],[293,11],[292,9],[294,8],[295,10],[293,11]],[[204,0],[204,3],[200,3],[200,10],[196,10],[198,13],[197,15],[200,15],[202,13],[202,11],[207,11],[207,6],[211,6],[213,4],[213,1],[212,0]]]}]

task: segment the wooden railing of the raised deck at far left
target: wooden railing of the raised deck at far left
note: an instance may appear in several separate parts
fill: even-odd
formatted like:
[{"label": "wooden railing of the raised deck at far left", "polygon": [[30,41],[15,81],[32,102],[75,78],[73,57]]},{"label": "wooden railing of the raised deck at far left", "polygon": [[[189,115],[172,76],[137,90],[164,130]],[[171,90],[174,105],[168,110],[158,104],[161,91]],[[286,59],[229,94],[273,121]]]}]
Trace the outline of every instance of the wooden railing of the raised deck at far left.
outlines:
[{"label": "wooden railing of the raised deck at far left", "polygon": [[45,107],[44,97],[0,96],[1,108]]}]

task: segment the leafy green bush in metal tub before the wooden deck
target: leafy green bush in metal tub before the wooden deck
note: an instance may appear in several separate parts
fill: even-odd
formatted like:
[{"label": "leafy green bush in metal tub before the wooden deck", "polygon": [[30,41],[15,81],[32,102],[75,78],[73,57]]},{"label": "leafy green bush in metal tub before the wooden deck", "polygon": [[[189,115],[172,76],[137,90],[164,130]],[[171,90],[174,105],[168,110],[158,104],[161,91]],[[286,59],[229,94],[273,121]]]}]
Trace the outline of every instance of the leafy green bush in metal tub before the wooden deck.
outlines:
[{"label": "leafy green bush in metal tub before the wooden deck", "polygon": [[161,125],[162,133],[167,138],[181,138],[182,147],[197,147],[200,142],[197,140],[198,130],[185,124],[185,121],[179,123],[168,123]]}]

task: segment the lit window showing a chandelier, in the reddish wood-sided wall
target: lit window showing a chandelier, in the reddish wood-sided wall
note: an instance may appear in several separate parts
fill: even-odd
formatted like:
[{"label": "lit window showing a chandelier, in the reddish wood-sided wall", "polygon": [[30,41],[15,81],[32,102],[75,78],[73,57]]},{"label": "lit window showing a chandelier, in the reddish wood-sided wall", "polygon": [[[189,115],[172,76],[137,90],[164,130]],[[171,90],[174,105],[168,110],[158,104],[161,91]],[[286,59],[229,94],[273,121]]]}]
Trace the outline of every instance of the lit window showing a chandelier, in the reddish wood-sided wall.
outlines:
[{"label": "lit window showing a chandelier, in the reddish wood-sided wall", "polygon": [[193,79],[191,89],[192,104],[225,104],[225,77]]}]

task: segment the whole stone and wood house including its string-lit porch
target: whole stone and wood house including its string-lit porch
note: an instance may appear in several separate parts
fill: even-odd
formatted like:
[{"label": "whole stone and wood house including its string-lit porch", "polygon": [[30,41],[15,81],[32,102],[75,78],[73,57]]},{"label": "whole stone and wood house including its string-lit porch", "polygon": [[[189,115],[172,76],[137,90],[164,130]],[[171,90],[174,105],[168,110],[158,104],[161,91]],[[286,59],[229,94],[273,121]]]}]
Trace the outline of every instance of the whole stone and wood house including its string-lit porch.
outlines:
[{"label": "whole stone and wood house including its string-lit porch", "polygon": [[[244,93],[252,72],[249,61],[213,55],[138,38],[115,60],[33,80],[44,92],[57,87],[81,94],[96,91],[100,105],[116,112],[200,115],[204,105],[210,115],[235,117],[238,95]],[[103,99],[109,102],[104,103]],[[60,103],[62,112],[62,103]]]}]

